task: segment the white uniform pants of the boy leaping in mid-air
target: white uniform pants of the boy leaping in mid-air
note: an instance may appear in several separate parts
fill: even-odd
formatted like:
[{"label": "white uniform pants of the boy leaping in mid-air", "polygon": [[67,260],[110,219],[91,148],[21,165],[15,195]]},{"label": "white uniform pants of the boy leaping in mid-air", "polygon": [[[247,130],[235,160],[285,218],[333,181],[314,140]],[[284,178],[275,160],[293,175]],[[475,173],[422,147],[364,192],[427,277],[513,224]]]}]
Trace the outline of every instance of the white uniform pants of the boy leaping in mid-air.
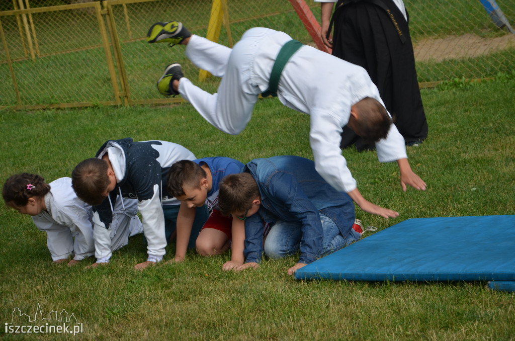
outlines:
[{"label": "white uniform pants of the boy leaping in mid-air", "polygon": [[260,89],[252,84],[251,65],[255,54],[270,32],[268,28],[249,29],[234,48],[192,35],[186,46],[186,57],[199,69],[221,77],[218,92],[210,94],[181,78],[179,93],[202,117],[226,133],[240,133],[250,121]]}]

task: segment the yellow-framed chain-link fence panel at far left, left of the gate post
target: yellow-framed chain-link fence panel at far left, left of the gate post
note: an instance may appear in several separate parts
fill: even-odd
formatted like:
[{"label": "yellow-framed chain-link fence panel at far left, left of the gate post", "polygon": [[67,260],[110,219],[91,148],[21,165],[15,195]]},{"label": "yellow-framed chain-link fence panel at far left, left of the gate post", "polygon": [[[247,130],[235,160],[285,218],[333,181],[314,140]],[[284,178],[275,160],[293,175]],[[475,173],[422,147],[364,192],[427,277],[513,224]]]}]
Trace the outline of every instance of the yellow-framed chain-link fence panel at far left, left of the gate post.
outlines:
[{"label": "yellow-framed chain-link fence panel at far left, left of the gate post", "polygon": [[0,105],[116,104],[99,3],[0,12]]}]

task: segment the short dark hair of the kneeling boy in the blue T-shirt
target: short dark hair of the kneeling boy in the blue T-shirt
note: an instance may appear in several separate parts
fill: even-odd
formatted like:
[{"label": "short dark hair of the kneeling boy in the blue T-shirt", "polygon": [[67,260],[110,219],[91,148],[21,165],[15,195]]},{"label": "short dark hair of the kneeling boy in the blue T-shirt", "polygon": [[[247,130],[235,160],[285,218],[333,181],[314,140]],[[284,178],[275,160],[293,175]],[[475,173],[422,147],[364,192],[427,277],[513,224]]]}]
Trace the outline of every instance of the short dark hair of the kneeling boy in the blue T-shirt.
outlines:
[{"label": "short dark hair of the kneeling boy in the blue T-shirt", "polygon": [[191,160],[177,161],[168,169],[167,190],[174,197],[183,196],[184,188],[200,188],[200,182],[206,178],[204,169]]}]

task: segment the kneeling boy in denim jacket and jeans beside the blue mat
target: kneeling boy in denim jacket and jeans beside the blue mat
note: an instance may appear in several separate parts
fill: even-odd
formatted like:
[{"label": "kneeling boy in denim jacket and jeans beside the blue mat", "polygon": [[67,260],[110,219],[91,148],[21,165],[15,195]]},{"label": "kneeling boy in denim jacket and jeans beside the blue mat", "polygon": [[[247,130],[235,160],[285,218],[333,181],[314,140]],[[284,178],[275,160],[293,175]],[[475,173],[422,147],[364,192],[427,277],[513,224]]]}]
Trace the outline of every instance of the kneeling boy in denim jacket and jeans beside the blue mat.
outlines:
[{"label": "kneeling boy in denim jacket and jeans beside the blue mat", "polygon": [[[236,270],[258,267],[263,251],[281,258],[300,250],[287,271],[359,240],[352,229],[354,203],[315,170],[312,160],[297,156],[254,159],[240,174],[220,182],[219,209],[245,224],[245,264]],[[263,239],[263,223],[273,223]]]}]

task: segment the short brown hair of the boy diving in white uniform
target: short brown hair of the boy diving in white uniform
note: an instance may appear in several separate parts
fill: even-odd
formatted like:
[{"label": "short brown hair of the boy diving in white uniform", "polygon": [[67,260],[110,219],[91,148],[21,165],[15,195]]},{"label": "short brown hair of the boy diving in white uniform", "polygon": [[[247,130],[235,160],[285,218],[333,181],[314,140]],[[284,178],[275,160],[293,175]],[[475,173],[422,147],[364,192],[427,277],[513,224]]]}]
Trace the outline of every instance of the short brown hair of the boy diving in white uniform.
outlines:
[{"label": "short brown hair of the boy diving in white uniform", "polygon": [[386,108],[376,99],[365,97],[354,105],[359,115],[356,132],[367,144],[385,139],[393,123]]}]

